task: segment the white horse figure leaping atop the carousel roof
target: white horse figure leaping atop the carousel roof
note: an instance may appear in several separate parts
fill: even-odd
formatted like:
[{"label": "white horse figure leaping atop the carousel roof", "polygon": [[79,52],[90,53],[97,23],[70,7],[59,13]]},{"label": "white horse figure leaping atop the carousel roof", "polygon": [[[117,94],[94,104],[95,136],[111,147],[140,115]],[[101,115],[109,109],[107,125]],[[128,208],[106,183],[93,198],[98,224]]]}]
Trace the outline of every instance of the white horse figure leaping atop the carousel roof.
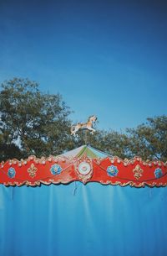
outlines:
[{"label": "white horse figure leaping atop the carousel roof", "polygon": [[76,133],[79,129],[88,129],[89,131],[91,131],[91,134],[94,134],[95,129],[93,128],[93,124],[96,122],[97,119],[98,118],[96,118],[96,116],[91,116],[89,117],[87,123],[77,123],[76,125],[73,125],[71,127],[71,135],[78,136]]}]

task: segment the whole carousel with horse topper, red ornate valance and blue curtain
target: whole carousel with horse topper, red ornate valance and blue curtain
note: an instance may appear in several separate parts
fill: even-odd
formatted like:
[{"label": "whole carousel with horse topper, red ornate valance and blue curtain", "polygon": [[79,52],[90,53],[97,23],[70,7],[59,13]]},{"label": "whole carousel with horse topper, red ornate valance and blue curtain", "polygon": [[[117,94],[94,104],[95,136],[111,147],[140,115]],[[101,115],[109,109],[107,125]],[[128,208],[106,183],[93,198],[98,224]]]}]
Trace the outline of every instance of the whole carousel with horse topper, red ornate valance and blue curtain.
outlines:
[{"label": "whole carousel with horse topper, red ornate valance and blue curtain", "polygon": [[[94,133],[97,118],[71,128]],[[0,165],[0,255],[167,255],[167,164],[91,145]]]}]

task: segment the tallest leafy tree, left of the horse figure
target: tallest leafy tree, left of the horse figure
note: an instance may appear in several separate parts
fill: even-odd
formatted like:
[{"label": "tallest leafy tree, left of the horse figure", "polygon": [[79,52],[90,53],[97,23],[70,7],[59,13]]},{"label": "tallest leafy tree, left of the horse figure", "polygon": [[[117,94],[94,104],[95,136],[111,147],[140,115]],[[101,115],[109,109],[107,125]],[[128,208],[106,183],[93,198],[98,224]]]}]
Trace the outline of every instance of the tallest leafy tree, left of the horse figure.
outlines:
[{"label": "tallest leafy tree, left of the horse figure", "polygon": [[8,159],[13,152],[15,157],[25,158],[28,154],[60,154],[70,148],[70,110],[59,94],[44,94],[38,83],[20,78],[5,81],[2,88],[1,159]]}]

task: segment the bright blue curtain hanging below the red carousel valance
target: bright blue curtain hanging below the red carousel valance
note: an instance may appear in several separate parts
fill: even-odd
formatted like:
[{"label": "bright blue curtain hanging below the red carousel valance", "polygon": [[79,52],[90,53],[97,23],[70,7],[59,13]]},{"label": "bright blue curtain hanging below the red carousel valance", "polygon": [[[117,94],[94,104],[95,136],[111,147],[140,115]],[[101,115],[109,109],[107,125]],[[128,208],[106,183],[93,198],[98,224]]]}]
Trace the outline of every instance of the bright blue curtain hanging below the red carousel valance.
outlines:
[{"label": "bright blue curtain hanging below the red carousel valance", "polygon": [[166,256],[166,188],[0,185],[1,256]]}]

